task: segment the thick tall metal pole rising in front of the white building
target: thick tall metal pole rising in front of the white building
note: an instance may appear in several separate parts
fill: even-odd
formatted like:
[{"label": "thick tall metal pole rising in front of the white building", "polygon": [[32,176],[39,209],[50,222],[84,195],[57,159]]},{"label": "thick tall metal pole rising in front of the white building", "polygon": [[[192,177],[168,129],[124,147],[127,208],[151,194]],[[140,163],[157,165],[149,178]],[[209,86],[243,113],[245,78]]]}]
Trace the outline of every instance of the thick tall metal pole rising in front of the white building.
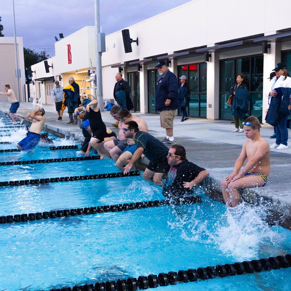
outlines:
[{"label": "thick tall metal pole rising in front of the white building", "polygon": [[99,9],[99,0],[94,1],[95,6],[95,50],[96,50],[96,87],[97,87],[97,100],[98,106],[100,111],[104,111],[104,104],[103,104],[103,90],[102,90],[102,52],[98,51],[98,33],[100,33],[100,9]]}]

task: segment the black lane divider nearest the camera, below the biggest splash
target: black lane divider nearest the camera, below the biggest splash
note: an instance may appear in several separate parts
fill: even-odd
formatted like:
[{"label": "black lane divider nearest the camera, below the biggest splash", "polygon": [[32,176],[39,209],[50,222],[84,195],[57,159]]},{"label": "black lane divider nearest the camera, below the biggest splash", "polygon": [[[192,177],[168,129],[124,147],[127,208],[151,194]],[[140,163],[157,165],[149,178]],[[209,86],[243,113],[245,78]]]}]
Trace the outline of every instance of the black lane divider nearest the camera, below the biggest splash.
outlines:
[{"label": "black lane divider nearest the camera, below the biggest splash", "polygon": [[75,285],[63,287],[62,289],[51,289],[50,291],[132,291],[137,289],[156,288],[159,286],[175,285],[179,282],[188,283],[197,280],[207,280],[216,277],[226,277],[242,275],[245,273],[254,273],[260,271],[269,271],[271,269],[280,269],[291,267],[291,255],[263,258],[259,260],[243,261],[242,263],[224,264],[200,267],[196,269],[180,270],[178,272],[159,273],[159,275],[150,274],[148,276],[139,276],[138,278],[119,279],[115,281],[97,282],[94,284],[85,284],[83,286]]}]

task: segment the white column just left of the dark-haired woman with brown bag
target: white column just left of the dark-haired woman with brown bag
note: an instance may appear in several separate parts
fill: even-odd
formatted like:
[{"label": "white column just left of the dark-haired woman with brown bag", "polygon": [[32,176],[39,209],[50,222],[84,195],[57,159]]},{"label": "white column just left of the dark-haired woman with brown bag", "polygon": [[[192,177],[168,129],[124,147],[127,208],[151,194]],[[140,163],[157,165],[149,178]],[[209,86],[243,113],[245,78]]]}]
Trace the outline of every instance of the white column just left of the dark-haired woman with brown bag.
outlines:
[{"label": "white column just left of the dark-haired woman with brown bag", "polygon": [[219,53],[207,63],[207,119],[219,119]]}]

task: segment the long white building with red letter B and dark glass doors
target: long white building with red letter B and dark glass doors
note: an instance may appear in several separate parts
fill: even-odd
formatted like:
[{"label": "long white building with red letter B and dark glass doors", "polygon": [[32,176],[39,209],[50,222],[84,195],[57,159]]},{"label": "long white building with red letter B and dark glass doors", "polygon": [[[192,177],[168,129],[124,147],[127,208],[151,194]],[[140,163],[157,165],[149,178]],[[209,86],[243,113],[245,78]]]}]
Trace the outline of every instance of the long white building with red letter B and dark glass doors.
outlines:
[{"label": "long white building with red letter B and dark glass doors", "polygon": [[[278,62],[291,68],[290,9],[290,1],[246,0],[234,7],[231,0],[193,0],[127,27],[132,39],[138,37],[138,46],[132,43],[132,52],[127,54],[121,31],[111,33],[102,53],[103,98],[113,98],[115,74],[122,72],[131,86],[134,111],[155,113],[159,76],[154,67],[164,59],[177,77],[188,78],[190,116],[231,119],[226,101],[237,74],[242,73],[251,94],[249,114],[264,122],[267,78]],[[90,67],[89,58],[94,67],[94,27],[87,26],[55,43],[50,73],[43,72],[43,63],[32,66],[35,82],[43,82],[45,92],[43,78],[50,77],[50,83],[62,80],[66,86],[68,77],[76,76],[81,83]]]}]

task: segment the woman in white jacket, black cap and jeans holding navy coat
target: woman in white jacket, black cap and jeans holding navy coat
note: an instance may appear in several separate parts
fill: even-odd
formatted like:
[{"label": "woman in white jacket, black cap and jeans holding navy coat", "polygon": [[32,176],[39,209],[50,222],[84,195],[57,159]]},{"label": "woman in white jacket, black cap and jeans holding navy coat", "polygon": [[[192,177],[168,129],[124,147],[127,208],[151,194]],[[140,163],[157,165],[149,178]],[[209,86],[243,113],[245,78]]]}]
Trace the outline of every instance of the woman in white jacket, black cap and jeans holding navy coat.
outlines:
[{"label": "woman in white jacket, black cap and jeans holding navy coat", "polygon": [[[291,78],[289,76],[287,66],[284,63],[277,63],[273,71],[275,71],[276,77],[271,80],[271,89],[270,89],[270,92],[268,93],[270,107],[268,110],[268,117],[266,116],[266,122],[270,123],[271,119],[275,121],[276,142],[270,146],[270,149],[285,150],[285,149],[288,149],[288,145],[287,145],[288,129],[287,129],[286,123],[287,123],[288,115],[290,114],[288,112],[289,100],[287,100],[290,97],[290,93],[287,90],[287,93],[289,94],[289,96],[284,96],[285,93],[283,91],[286,89],[283,89],[283,88],[291,88]],[[280,102],[280,108],[279,108],[280,113],[277,110],[278,108],[274,107],[276,106],[276,104],[278,104],[278,102],[274,102],[272,99],[276,99],[276,100],[278,99],[278,101]],[[274,116],[273,113],[275,113],[276,116]]]}]

